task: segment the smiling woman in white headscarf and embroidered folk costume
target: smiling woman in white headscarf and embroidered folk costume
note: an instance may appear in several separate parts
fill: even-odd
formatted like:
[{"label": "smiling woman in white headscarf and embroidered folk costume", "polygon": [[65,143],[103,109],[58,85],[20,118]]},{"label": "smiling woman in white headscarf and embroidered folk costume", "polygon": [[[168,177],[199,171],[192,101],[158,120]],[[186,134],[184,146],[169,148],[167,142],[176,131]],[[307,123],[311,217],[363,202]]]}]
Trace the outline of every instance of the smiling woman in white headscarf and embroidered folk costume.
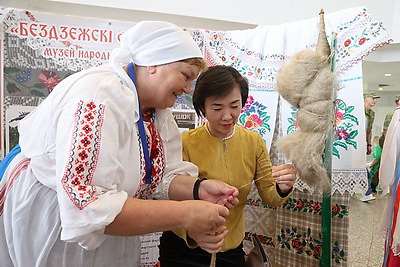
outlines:
[{"label": "smiling woman in white headscarf and embroidered folk costume", "polygon": [[182,161],[169,109],[204,67],[188,33],[143,21],[110,64],[63,80],[19,123],[21,152],[0,183],[0,265],[139,266],[138,235],[225,233],[238,191],[212,180],[193,190],[197,167]]}]

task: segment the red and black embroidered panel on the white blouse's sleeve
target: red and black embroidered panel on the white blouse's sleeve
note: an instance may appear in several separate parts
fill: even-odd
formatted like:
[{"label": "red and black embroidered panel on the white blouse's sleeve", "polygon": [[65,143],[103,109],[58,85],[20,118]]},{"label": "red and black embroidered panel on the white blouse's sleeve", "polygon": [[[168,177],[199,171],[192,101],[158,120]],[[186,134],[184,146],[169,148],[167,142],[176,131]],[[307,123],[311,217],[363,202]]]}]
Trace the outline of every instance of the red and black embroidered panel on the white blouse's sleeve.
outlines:
[{"label": "red and black embroidered panel on the white blouse's sleeve", "polygon": [[103,105],[80,101],[75,113],[69,160],[61,180],[68,197],[80,210],[97,199],[96,187],[91,182],[99,158],[103,122]]}]

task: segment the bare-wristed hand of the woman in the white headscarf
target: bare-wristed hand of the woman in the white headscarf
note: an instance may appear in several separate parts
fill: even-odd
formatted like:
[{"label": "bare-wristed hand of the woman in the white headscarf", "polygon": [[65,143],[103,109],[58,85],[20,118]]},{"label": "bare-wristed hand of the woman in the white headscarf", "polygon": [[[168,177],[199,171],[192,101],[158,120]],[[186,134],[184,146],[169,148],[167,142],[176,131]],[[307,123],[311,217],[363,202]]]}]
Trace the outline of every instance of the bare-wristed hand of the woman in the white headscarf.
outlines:
[{"label": "bare-wristed hand of the woman in the white headscarf", "polygon": [[184,218],[183,228],[204,234],[222,232],[225,228],[226,217],[229,210],[221,205],[202,200],[185,200],[187,214]]}]

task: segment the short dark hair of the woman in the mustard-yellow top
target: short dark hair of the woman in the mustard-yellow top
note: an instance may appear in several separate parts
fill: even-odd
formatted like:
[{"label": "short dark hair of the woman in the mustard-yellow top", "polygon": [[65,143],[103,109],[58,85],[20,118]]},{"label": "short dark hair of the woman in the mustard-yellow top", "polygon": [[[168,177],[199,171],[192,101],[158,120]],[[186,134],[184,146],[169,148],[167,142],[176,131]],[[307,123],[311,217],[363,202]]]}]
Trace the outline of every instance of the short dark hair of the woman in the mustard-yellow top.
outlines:
[{"label": "short dark hair of the woman in the mustard-yellow top", "polygon": [[213,66],[200,74],[193,92],[193,106],[197,115],[205,116],[205,102],[210,96],[226,96],[236,85],[240,87],[242,107],[249,95],[247,79],[231,66]]}]

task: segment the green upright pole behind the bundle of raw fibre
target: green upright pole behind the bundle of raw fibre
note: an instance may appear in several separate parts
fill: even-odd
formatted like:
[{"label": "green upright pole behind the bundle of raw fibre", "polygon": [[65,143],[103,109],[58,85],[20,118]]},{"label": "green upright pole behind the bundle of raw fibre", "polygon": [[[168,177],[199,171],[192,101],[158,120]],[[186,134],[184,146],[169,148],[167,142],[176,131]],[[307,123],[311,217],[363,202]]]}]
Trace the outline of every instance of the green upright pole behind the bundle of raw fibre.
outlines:
[{"label": "green upright pole behind the bundle of raw fibre", "polygon": [[[336,34],[332,35],[332,45],[331,45],[331,71],[334,72],[334,62],[335,62],[335,51],[336,51]],[[335,99],[335,88],[332,86],[332,99]],[[334,110],[332,108],[331,112]],[[324,150],[324,167],[328,174],[328,178],[332,180],[332,143],[333,143],[333,129],[329,130]],[[332,192],[331,187],[324,189],[322,193],[322,222],[321,222],[321,267],[330,267],[332,259],[332,247],[331,247],[331,226],[332,226]]]}]

